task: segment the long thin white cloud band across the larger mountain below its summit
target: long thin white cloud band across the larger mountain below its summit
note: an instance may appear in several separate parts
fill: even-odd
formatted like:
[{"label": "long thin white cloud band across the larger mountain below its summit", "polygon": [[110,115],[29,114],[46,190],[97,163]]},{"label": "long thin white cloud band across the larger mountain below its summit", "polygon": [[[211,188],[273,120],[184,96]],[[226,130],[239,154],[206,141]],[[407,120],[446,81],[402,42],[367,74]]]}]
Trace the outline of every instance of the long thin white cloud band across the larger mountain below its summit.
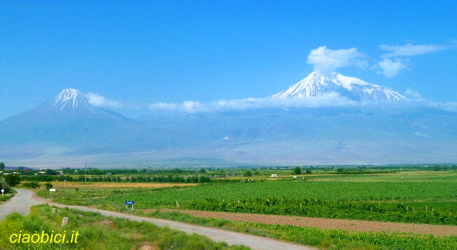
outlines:
[{"label": "long thin white cloud band across the larger mountain below its summit", "polygon": [[312,98],[247,98],[237,100],[220,100],[209,103],[187,101],[184,103],[153,103],[149,109],[154,111],[172,111],[184,113],[215,112],[228,110],[246,110],[260,108],[318,108],[331,106],[357,106],[360,103],[342,98],[339,93],[332,92],[326,96]]}]

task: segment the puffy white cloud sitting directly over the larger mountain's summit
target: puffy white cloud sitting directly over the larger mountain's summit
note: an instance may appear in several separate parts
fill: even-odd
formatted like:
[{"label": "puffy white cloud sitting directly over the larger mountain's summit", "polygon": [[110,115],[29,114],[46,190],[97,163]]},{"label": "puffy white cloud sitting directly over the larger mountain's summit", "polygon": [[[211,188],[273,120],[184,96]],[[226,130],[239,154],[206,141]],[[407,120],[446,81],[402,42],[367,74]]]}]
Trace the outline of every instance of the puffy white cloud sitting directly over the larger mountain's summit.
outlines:
[{"label": "puffy white cloud sitting directly over the larger mountain's summit", "polygon": [[338,68],[356,65],[362,69],[366,66],[366,61],[362,58],[365,54],[358,52],[357,48],[350,49],[327,49],[321,46],[311,50],[308,55],[308,64],[314,66],[314,70],[319,74],[328,75]]}]

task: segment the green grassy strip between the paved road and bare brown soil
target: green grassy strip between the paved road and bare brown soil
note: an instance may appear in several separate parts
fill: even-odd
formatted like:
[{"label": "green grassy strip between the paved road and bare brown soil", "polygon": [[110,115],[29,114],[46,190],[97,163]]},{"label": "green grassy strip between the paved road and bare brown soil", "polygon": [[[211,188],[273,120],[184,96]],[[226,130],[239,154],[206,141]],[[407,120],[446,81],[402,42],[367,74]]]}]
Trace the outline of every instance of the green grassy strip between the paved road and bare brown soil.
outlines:
[{"label": "green grassy strip between the paved road and bare brown soil", "polygon": [[195,217],[179,212],[161,212],[159,210],[150,213],[139,210],[134,213],[141,216],[270,237],[324,249],[457,249],[457,236],[434,237],[432,235],[402,233],[351,232],[314,227],[244,223],[211,217]]}]

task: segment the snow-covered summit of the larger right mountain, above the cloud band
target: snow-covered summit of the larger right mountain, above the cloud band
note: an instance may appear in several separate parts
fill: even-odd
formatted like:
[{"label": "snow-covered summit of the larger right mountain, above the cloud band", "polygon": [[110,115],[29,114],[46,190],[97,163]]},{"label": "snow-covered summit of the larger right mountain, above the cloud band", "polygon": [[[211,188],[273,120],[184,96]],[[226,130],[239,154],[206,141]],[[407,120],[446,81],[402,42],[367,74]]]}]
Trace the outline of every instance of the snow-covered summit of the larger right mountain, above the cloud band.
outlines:
[{"label": "snow-covered summit of the larger right mountain, above the cloud band", "polygon": [[331,92],[338,92],[342,97],[360,101],[396,101],[404,99],[399,92],[389,87],[371,84],[361,79],[343,76],[335,72],[328,77],[313,72],[295,85],[275,93],[271,97],[281,99],[309,98],[325,96]]}]

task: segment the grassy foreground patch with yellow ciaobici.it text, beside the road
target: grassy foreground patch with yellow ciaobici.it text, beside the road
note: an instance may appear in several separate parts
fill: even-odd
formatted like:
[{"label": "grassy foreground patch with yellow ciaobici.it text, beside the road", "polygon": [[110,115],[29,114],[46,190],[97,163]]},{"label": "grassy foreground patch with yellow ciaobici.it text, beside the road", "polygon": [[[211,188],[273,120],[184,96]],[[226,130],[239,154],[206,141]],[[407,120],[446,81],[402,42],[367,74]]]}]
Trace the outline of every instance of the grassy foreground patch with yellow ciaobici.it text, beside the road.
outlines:
[{"label": "grassy foreground patch with yellow ciaobici.it text, beside the road", "polygon": [[[63,217],[69,218],[65,228],[61,227]],[[78,232],[79,236],[74,240],[76,242],[22,242],[25,234],[41,235],[44,232],[52,235],[63,233],[64,230],[67,240],[72,234],[70,232]],[[22,234],[21,242],[11,243],[11,235],[19,233]],[[58,208],[58,212],[53,213],[48,205],[32,207],[28,216],[18,213],[7,216],[0,222],[0,235],[0,249],[249,249],[242,245],[229,246],[225,242],[214,242],[197,234],[188,235],[151,223],[106,217],[99,213],[67,208]],[[12,237],[13,241],[15,238]]]}]

